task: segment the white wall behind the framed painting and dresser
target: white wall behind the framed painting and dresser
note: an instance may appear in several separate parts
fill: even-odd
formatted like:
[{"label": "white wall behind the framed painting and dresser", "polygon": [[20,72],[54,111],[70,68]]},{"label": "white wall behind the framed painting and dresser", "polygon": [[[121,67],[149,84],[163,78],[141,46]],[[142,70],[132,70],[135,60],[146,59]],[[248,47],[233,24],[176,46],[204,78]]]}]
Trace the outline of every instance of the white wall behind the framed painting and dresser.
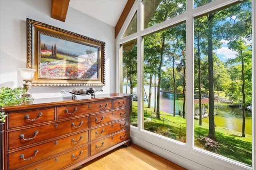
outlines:
[{"label": "white wall behind the framed painting and dresser", "polygon": [[[0,87],[22,87],[17,68],[26,68],[26,18],[66,29],[106,43],[106,86],[94,87],[103,93],[115,92],[114,27],[69,7],[66,21],[51,16],[51,0],[0,0]],[[65,96],[61,90],[74,87],[32,87],[34,98]],[[80,87],[81,88],[81,87]],[[70,94],[66,94],[70,96]]]}]

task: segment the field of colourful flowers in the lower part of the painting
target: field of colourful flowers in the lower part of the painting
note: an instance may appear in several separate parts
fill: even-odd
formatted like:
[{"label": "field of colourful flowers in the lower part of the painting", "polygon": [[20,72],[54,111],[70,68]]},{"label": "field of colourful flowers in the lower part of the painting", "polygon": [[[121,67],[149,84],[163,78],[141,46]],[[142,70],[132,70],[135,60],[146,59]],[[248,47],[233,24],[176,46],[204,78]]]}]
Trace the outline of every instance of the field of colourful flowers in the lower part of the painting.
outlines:
[{"label": "field of colourful flowers in the lower part of the painting", "polygon": [[57,54],[57,57],[42,55],[40,78],[96,79],[98,78],[97,58],[86,56],[70,57]]}]

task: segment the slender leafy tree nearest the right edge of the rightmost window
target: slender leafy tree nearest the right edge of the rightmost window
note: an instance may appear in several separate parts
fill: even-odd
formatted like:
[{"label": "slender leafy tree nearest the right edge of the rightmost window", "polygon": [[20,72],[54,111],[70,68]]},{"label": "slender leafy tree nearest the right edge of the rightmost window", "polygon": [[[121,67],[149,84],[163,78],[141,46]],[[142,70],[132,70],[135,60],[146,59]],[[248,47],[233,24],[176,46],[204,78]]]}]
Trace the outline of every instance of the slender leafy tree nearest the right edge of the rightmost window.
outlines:
[{"label": "slender leafy tree nearest the right edge of the rightmost window", "polygon": [[[251,64],[252,50],[251,45],[246,41],[252,38],[252,9],[251,0],[227,8],[225,12],[228,14],[230,21],[226,22],[221,29],[224,32],[224,38],[229,41],[228,48],[237,52],[235,59],[230,59],[229,63],[241,63],[241,78],[242,78],[242,137],[245,137],[245,105],[246,99],[246,82],[250,82],[250,76],[245,74],[245,65]],[[251,75],[250,68],[247,69],[247,74]],[[249,86],[250,87],[250,86]],[[250,91],[250,90],[249,90]],[[250,98],[248,95],[247,98]]]}]

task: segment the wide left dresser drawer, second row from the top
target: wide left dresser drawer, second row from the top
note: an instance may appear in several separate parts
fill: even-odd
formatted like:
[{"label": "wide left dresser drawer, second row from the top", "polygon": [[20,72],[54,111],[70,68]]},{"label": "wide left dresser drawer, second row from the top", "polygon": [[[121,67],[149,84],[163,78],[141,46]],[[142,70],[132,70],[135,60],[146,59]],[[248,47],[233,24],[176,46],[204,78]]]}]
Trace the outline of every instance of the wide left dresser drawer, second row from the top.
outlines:
[{"label": "wide left dresser drawer, second row from the top", "polygon": [[8,132],[9,150],[88,129],[88,116]]}]

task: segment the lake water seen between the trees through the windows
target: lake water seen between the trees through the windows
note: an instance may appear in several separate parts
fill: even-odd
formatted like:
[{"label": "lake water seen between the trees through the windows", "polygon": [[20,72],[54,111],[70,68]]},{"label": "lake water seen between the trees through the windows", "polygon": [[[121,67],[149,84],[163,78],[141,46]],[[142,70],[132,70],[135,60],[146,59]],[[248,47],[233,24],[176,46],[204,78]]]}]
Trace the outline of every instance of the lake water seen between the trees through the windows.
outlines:
[{"label": "lake water seen between the trees through the windows", "polygon": [[[144,87],[148,96],[149,86]],[[126,92],[126,86],[123,86],[123,92]],[[134,88],[133,92],[137,92],[137,88]],[[127,93],[130,93],[130,89],[128,89]],[[173,114],[173,98],[174,95],[172,93],[160,92],[160,110]],[[178,100],[177,95],[175,99],[175,109],[176,114],[178,114],[178,111],[182,110],[182,102]],[[144,101],[144,105],[148,105],[146,100]],[[152,88],[151,106],[154,107],[154,88]],[[252,112],[246,110],[245,116],[245,133],[252,135]],[[203,118],[202,121],[208,123],[209,118]],[[214,116],[214,123],[218,127],[242,132],[242,110],[239,107],[228,107],[227,104],[218,105],[218,114]]]}]

